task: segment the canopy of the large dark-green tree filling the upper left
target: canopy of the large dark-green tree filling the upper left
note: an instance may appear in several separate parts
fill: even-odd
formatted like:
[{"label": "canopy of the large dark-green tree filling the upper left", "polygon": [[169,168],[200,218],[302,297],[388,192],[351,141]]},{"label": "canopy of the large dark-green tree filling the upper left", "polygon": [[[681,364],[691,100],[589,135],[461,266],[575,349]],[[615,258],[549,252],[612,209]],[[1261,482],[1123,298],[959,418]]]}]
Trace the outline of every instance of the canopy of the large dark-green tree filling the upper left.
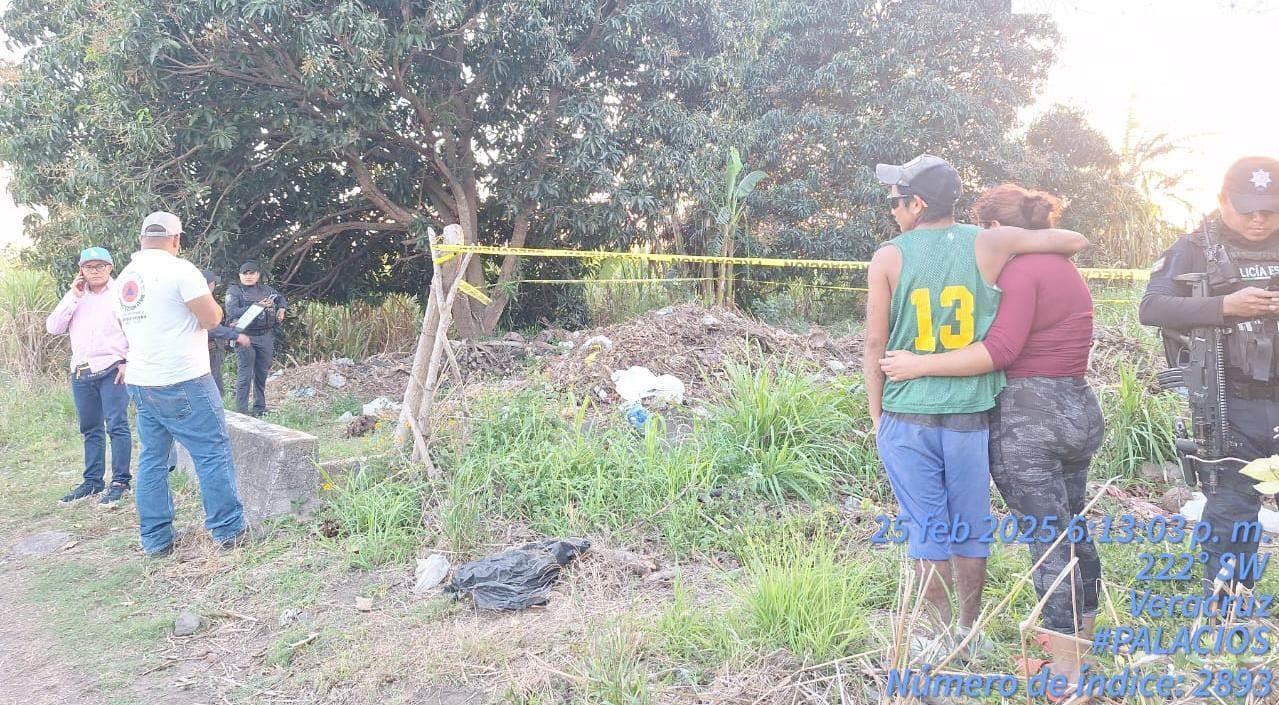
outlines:
[{"label": "canopy of the large dark-green tree filling the upper left", "polygon": [[[127,248],[153,207],[303,293],[428,271],[469,243],[616,244],[707,178],[709,0],[17,0],[0,99],[14,192],[51,257]],[[464,334],[506,302],[460,302]],[[480,285],[476,264],[467,278]],[[358,285],[357,285],[358,283]]]}]

